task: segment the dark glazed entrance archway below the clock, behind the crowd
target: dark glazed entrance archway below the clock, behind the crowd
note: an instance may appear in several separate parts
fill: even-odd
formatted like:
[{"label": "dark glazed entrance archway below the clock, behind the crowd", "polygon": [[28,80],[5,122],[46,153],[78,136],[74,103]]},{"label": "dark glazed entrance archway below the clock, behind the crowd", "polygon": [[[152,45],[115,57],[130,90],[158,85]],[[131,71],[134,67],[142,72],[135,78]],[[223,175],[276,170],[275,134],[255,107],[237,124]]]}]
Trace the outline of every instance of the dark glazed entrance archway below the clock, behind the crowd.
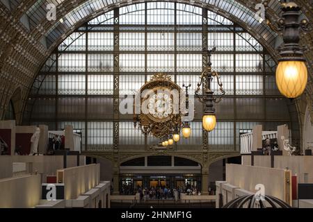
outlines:
[{"label": "dark glazed entrance archway below the clock, behind the crowd", "polygon": [[[201,189],[201,164],[175,155],[146,155],[120,164],[121,194],[142,189]],[[152,197],[152,198],[157,198]]]}]

